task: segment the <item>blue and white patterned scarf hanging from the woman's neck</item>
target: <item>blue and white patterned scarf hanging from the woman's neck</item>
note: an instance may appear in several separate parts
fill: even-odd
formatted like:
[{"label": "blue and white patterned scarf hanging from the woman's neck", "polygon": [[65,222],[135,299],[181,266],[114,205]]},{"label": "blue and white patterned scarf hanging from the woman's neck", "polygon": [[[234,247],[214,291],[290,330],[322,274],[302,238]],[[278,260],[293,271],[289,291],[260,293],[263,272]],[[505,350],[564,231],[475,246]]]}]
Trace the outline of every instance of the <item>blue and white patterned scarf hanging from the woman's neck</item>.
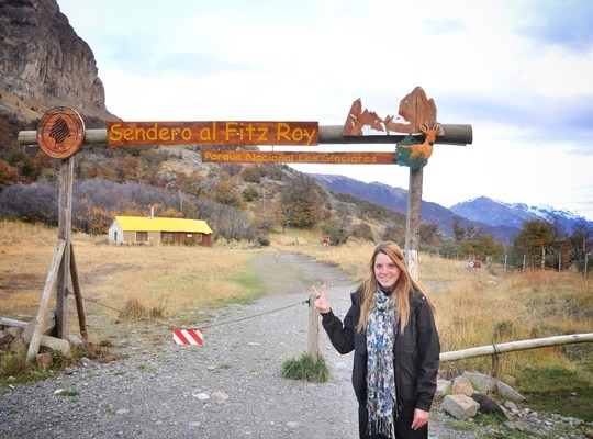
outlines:
[{"label": "blue and white patterned scarf hanging from the woman's neck", "polygon": [[393,370],[393,328],[395,311],[381,290],[374,294],[374,306],[367,324],[367,434],[395,438],[393,414],[396,406]]}]

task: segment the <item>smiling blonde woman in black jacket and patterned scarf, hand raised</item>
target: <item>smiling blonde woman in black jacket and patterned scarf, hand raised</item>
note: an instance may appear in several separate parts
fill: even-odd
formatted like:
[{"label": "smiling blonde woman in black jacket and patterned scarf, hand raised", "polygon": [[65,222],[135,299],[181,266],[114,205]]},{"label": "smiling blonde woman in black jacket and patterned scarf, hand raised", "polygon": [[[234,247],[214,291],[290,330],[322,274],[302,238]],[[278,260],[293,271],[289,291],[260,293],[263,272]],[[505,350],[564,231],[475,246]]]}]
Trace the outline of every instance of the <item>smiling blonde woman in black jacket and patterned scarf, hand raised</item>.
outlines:
[{"label": "smiling blonde woman in black jacket and patterned scarf, hand raised", "polygon": [[354,350],[360,438],[426,439],[440,353],[435,306],[395,243],[379,244],[369,268],[344,323],[325,285],[313,286],[314,306],[334,348]]}]

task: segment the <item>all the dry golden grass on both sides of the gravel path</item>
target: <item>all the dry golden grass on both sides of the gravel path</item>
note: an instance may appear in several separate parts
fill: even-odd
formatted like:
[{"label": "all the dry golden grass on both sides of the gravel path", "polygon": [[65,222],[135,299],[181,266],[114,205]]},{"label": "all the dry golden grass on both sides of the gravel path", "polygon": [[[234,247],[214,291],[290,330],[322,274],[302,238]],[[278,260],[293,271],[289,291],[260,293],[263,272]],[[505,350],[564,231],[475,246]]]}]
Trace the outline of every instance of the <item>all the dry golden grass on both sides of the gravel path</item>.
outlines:
[{"label": "all the dry golden grass on both sides of the gravel path", "polygon": [[[299,246],[287,244],[294,238]],[[0,222],[0,316],[35,316],[55,243],[55,229]],[[96,324],[137,318],[136,314],[182,319],[203,307],[249,300],[262,290],[248,268],[253,250],[239,247],[110,246],[104,237],[87,235],[75,235],[74,247],[86,311]],[[367,274],[373,245],[323,247],[315,234],[291,230],[272,236],[269,249],[307,255],[358,281]],[[470,271],[467,261],[424,254],[418,262],[421,279],[430,285],[437,305],[444,351],[593,328],[592,288],[578,273],[504,274],[493,266]],[[526,363],[570,367],[574,356],[567,351],[507,353],[503,372]],[[489,371],[490,358],[456,367]]]}]

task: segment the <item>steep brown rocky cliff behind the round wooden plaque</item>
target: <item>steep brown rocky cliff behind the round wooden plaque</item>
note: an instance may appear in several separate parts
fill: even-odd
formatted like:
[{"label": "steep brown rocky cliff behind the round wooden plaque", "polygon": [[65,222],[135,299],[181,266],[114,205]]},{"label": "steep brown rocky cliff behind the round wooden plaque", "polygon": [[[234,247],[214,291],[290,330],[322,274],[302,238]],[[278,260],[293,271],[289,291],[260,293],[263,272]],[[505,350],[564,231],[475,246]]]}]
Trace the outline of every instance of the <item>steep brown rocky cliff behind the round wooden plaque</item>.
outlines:
[{"label": "steep brown rocky cliff behind the round wooden plaque", "polygon": [[88,128],[115,119],[92,50],[56,0],[0,0],[0,146],[58,105],[77,110]]}]

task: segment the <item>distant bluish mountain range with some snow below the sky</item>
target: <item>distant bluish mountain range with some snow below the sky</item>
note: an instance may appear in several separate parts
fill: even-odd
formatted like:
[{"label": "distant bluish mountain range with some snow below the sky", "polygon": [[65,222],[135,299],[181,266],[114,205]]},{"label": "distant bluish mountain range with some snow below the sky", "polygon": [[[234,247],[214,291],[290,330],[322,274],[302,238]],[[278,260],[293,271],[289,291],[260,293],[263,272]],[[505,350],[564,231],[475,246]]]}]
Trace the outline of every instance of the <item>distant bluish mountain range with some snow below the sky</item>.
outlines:
[{"label": "distant bluish mountain range with some snow below the sky", "polygon": [[[395,212],[405,214],[407,211],[407,190],[405,189],[379,182],[365,183],[344,176],[323,173],[309,173],[309,176],[333,192],[358,196]],[[510,204],[486,196],[457,203],[449,209],[429,201],[422,202],[423,223],[434,223],[440,230],[451,234],[456,218],[461,226],[471,223],[482,233],[492,235],[494,239],[504,244],[511,244],[527,221],[540,219],[555,223],[569,233],[581,225],[593,228],[593,222],[572,212],[546,205]]]}]

